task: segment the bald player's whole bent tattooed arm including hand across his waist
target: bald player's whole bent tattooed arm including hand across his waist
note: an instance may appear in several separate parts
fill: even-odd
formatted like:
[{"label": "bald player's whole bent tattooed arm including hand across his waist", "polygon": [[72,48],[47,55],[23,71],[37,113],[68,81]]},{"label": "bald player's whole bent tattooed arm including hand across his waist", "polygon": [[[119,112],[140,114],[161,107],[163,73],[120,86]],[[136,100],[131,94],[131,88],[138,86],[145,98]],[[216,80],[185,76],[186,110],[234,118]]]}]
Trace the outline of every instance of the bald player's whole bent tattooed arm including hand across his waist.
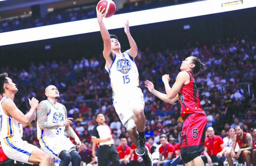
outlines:
[{"label": "bald player's whole bent tattooed arm including hand across his waist", "polygon": [[63,122],[60,123],[49,123],[47,122],[47,112],[49,111],[49,106],[45,102],[41,101],[38,110],[36,111],[38,125],[40,129],[56,129],[57,127],[66,126],[72,123],[72,118],[67,118]]}]

